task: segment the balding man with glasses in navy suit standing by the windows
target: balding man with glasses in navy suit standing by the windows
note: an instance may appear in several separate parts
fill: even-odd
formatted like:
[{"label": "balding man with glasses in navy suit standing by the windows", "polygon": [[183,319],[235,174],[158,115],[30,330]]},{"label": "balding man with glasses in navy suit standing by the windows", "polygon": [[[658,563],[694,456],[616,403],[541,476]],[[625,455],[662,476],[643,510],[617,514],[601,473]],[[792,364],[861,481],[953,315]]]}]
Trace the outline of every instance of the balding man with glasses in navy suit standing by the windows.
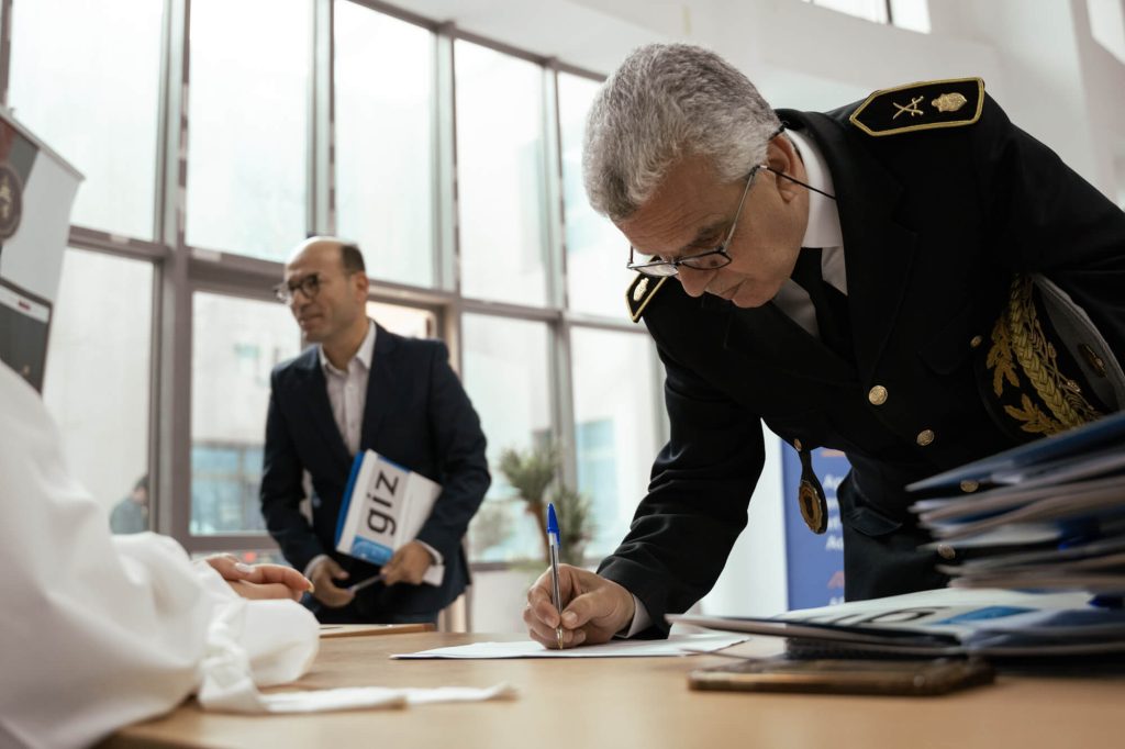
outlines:
[{"label": "balding man with glasses in navy suit standing by the windows", "polygon": [[[480,419],[449,351],[367,317],[363,256],[339,240],[299,245],[277,294],[315,345],[271,376],[261,486],[267,527],[315,585],[310,607],[321,622],[433,622],[469,581],[461,539],[492,480]],[[417,538],[381,568],[335,551],[349,470],[368,449],[442,487]],[[305,471],[312,525],[299,508]],[[441,584],[423,584],[438,563]],[[349,592],[380,572],[382,583]]]}]

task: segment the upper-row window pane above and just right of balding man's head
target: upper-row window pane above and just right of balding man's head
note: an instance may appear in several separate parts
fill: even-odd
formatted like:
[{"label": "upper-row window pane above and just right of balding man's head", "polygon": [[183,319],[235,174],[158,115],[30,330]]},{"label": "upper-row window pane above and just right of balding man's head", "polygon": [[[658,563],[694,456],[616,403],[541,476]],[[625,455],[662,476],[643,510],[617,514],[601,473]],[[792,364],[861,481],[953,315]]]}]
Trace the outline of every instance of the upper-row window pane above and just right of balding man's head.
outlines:
[{"label": "upper-row window pane above and just right of balding man's head", "polygon": [[335,4],[336,216],[372,278],[433,286],[433,35]]}]

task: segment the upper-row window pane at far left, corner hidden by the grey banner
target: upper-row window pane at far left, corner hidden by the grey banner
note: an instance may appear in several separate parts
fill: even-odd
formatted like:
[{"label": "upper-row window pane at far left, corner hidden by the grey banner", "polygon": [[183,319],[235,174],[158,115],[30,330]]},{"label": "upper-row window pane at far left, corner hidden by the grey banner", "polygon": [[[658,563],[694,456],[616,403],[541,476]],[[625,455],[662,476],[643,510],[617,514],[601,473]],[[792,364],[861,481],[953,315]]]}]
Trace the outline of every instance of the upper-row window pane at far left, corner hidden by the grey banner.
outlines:
[{"label": "upper-row window pane at far left, corner hidden by the grey banner", "polygon": [[151,240],[163,2],[12,3],[16,117],[86,175],[71,220]]}]

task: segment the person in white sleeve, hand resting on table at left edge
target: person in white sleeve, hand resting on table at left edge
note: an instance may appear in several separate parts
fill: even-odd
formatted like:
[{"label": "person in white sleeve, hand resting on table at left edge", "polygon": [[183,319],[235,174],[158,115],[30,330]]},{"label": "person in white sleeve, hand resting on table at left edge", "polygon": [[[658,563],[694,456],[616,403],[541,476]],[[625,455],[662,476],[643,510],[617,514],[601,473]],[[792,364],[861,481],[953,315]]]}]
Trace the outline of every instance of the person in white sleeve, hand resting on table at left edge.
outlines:
[{"label": "person in white sleeve, hand resting on table at left edge", "polygon": [[84,747],[192,693],[307,670],[318,628],[292,601],[304,577],[111,536],[60,444],[38,394],[0,363],[0,747]]}]

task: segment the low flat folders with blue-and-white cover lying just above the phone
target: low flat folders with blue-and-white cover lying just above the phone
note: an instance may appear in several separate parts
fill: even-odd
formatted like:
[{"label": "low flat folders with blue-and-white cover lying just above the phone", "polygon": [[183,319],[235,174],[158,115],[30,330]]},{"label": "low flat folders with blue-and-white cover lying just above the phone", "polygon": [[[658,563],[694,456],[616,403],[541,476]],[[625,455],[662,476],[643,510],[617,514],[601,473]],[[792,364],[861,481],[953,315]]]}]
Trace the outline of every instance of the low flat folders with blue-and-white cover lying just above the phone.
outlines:
[{"label": "low flat folders with blue-and-white cover lying just above the phone", "polygon": [[672,623],[788,639],[790,656],[989,656],[1053,659],[1125,653],[1125,610],[1082,593],[942,588],[792,611],[772,619],[669,615]]}]

